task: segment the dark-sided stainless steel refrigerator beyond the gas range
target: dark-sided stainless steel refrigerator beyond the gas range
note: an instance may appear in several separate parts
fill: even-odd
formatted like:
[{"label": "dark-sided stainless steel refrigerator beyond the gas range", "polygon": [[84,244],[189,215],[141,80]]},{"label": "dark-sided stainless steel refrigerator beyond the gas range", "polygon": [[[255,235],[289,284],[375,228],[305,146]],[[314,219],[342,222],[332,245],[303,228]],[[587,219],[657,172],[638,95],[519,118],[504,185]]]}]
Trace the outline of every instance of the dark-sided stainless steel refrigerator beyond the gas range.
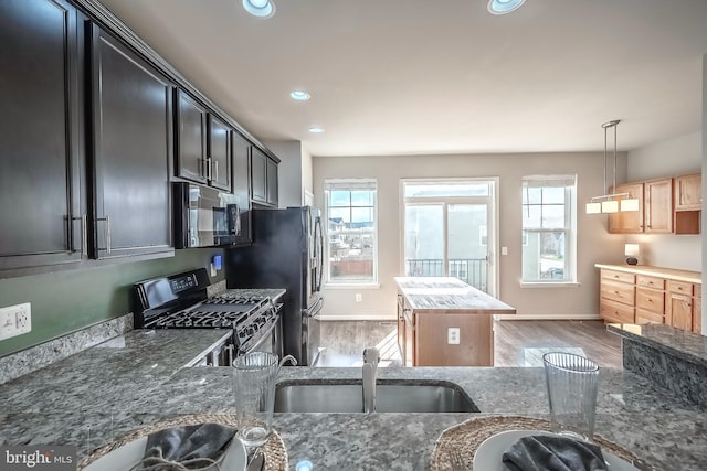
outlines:
[{"label": "dark-sided stainless steel refrigerator beyond the gas range", "polygon": [[253,210],[253,244],[226,253],[228,288],[285,288],[283,346],[299,365],[319,350],[323,233],[319,210]]}]

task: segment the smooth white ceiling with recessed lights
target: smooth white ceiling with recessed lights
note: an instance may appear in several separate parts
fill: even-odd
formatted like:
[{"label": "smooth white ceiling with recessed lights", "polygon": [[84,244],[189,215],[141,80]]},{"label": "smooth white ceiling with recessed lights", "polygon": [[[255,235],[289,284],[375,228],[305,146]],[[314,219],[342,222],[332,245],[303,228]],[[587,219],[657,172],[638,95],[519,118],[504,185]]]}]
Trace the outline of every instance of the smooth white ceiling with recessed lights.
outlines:
[{"label": "smooth white ceiling with recessed lights", "polygon": [[273,1],[261,20],[102,0],[255,137],[313,156],[598,151],[611,119],[630,150],[701,126],[707,0]]}]

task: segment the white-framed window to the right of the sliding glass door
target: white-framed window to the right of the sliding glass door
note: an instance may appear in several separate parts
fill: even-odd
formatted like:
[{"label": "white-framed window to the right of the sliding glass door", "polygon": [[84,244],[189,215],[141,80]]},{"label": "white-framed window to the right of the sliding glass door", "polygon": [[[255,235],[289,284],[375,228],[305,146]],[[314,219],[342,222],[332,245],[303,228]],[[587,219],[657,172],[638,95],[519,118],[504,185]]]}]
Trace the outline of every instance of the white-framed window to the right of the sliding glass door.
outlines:
[{"label": "white-framed window to the right of the sliding glass door", "polygon": [[574,282],[576,175],[523,179],[523,282]]}]

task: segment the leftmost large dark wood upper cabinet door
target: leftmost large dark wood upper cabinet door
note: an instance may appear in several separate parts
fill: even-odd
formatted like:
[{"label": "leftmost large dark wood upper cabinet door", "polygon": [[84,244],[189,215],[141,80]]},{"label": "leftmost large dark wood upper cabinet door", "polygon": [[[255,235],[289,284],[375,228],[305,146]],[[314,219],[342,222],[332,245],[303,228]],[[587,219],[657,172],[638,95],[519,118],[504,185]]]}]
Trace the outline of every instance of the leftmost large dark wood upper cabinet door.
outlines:
[{"label": "leftmost large dark wood upper cabinet door", "polygon": [[82,253],[78,12],[0,1],[0,270]]}]

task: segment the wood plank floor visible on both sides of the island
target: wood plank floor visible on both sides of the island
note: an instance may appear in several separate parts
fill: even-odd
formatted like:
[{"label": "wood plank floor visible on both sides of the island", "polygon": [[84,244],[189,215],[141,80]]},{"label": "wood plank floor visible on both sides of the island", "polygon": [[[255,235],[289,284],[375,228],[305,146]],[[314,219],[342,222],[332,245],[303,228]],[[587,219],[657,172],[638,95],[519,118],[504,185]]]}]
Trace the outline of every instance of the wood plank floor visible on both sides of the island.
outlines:
[{"label": "wood plank floor visible on both sides of the island", "polygon": [[[495,328],[495,366],[542,366],[551,350],[621,367],[621,339],[601,321],[496,321]],[[401,366],[395,329],[394,322],[324,321],[316,366],[360,366],[367,346],[381,351],[381,366]]]}]

